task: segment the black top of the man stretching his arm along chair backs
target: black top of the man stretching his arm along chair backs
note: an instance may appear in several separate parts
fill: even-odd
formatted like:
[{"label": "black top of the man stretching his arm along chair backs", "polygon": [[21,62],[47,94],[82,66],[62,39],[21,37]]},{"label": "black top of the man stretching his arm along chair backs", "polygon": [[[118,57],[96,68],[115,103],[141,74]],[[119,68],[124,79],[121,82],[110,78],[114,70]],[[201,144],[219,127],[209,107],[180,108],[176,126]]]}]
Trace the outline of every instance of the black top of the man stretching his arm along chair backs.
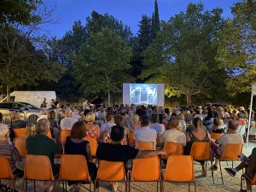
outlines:
[{"label": "black top of the man stretching his arm along chair backs", "polygon": [[135,159],[139,150],[129,145],[100,143],[96,156],[99,160],[123,161]]}]

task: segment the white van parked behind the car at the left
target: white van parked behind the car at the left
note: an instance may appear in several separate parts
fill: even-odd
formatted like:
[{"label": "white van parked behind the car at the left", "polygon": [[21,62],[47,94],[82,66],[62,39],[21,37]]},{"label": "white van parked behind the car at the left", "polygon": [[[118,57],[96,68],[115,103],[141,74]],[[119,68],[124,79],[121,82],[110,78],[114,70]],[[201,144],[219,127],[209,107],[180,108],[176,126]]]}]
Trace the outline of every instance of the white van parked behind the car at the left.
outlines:
[{"label": "white van parked behind the car at the left", "polygon": [[42,102],[44,101],[44,98],[46,98],[47,107],[51,108],[51,100],[56,100],[56,93],[53,90],[47,90],[47,91],[40,91],[40,90],[31,90],[31,91],[14,91],[10,94],[10,100],[12,102],[28,102],[35,107],[40,108]]}]

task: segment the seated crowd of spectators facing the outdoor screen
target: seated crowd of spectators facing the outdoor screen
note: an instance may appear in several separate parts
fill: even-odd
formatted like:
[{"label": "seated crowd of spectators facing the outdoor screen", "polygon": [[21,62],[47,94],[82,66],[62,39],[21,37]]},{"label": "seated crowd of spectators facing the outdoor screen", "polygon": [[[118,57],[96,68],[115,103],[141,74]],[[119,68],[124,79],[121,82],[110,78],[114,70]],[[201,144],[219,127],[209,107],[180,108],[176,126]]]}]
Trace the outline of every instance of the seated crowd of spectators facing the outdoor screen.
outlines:
[{"label": "seated crowd of spectators facing the outdoor screen", "polygon": [[[56,113],[57,112],[57,113]],[[196,108],[159,108],[156,106],[114,106],[108,108],[84,108],[80,112],[75,108],[63,108],[47,111],[41,109],[41,115],[36,125],[21,120],[17,113],[11,115],[11,125],[3,125],[3,116],[0,113],[0,155],[9,160],[14,173],[23,176],[20,154],[13,145],[15,129],[26,127],[27,154],[43,154],[49,157],[54,174],[58,174],[60,167],[55,164],[54,154],[83,154],[87,160],[90,177],[96,179],[97,166],[92,160],[90,145],[84,137],[92,137],[97,140],[97,160],[123,161],[148,158],[163,155],[162,149],[167,142],[183,144],[184,154],[190,154],[195,142],[209,142],[212,148],[212,158],[221,156],[225,144],[244,143],[247,131],[253,139],[256,135],[255,117],[252,113],[252,123],[247,130],[248,111],[243,108],[204,107]],[[67,137],[64,147],[61,145],[61,130],[71,130],[71,136]],[[48,136],[50,133],[51,137]],[[211,133],[222,133],[218,139],[212,139]],[[139,150],[134,148],[131,138],[136,142],[152,142],[154,150]],[[246,174],[253,177],[256,173],[256,149],[253,149],[249,157],[248,165],[242,164],[235,169],[225,170],[235,176],[241,167],[247,167]],[[166,163],[166,162],[165,162]],[[202,177],[207,176],[205,162],[200,161]],[[22,165],[22,163],[20,163]],[[19,164],[19,165],[20,165]],[[218,170],[218,159],[215,159],[213,171]],[[79,191],[80,183],[69,183],[74,191]],[[113,191],[117,191],[117,183],[110,183]],[[96,183],[98,185],[98,183]],[[48,191],[54,190],[54,184]],[[97,186],[98,187],[98,186]],[[247,184],[247,191],[250,186]]]}]

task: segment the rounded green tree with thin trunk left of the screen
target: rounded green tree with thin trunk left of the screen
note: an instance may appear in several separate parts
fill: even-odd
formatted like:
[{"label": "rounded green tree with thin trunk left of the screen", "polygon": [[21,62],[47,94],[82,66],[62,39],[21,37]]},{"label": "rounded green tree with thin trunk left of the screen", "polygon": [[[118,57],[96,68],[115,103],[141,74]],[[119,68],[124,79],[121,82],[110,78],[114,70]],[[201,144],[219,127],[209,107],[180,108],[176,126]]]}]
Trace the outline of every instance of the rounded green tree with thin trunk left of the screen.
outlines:
[{"label": "rounded green tree with thin trunk left of the screen", "polygon": [[132,81],[126,73],[131,68],[131,48],[108,27],[91,33],[72,58],[73,76],[81,84],[84,95],[108,93],[109,106],[110,93],[120,92],[123,82]]}]

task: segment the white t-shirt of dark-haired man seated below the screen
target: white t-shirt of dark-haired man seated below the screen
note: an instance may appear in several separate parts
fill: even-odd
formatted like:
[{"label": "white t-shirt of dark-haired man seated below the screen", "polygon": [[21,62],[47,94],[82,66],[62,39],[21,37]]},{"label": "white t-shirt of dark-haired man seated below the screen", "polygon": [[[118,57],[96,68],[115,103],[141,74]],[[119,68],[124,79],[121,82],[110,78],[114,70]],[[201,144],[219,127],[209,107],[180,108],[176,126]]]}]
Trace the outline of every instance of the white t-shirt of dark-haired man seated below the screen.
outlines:
[{"label": "white t-shirt of dark-haired man seated below the screen", "polygon": [[150,129],[149,126],[143,126],[139,130],[134,131],[134,140],[138,142],[153,142],[156,144],[156,131]]}]

